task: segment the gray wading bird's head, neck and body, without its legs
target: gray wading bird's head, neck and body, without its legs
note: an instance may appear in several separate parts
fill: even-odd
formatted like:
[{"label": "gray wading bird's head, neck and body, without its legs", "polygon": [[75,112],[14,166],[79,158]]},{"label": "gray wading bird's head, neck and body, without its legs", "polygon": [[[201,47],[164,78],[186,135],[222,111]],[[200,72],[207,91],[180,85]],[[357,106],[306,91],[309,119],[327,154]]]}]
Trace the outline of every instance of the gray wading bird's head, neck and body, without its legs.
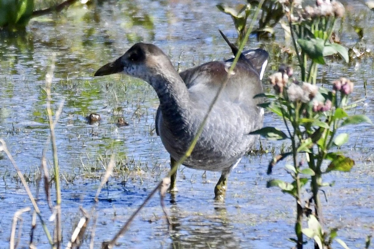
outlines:
[{"label": "gray wading bird's head, neck and body, without its legs", "polygon": [[[251,149],[257,136],[248,134],[263,125],[263,110],[257,106],[260,100],[253,97],[262,92],[260,78],[267,56],[261,49],[240,56],[184,165],[228,176],[231,167]],[[124,72],[152,85],[160,100],[156,132],[177,161],[196,135],[230,65],[231,60],[208,62],[178,74],[158,47],[137,43],[115,62],[102,66],[95,76]]]}]

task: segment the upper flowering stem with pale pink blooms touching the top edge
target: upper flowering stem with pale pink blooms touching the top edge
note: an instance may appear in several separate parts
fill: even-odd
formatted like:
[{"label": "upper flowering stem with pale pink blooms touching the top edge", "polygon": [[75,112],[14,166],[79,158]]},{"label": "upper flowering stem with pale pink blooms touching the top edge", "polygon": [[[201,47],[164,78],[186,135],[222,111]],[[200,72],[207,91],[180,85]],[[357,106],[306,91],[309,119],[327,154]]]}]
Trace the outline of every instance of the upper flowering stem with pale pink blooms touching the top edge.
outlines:
[{"label": "upper flowering stem with pale pink blooms touching the top edge", "polygon": [[334,25],[344,16],[344,6],[336,0],[316,0],[315,6],[302,7],[301,0],[279,0],[288,21],[282,25],[292,38],[292,45],[301,69],[301,80],[316,83],[318,64],[324,57],[339,54],[346,62],[348,51],[334,41]]}]

